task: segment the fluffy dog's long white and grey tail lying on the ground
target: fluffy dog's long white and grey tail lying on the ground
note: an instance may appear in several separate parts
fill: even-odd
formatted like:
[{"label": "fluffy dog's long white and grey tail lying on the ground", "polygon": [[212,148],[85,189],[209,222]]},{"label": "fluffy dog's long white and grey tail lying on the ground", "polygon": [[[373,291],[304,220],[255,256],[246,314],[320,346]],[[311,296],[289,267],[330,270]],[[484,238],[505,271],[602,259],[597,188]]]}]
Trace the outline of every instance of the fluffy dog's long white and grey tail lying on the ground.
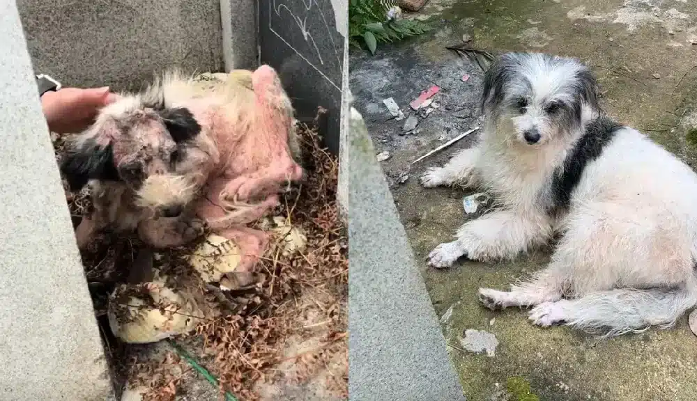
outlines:
[{"label": "fluffy dog's long white and grey tail lying on the ground", "polygon": [[618,289],[587,294],[562,303],[565,324],[605,337],[673,326],[697,304],[697,275],[677,288]]}]

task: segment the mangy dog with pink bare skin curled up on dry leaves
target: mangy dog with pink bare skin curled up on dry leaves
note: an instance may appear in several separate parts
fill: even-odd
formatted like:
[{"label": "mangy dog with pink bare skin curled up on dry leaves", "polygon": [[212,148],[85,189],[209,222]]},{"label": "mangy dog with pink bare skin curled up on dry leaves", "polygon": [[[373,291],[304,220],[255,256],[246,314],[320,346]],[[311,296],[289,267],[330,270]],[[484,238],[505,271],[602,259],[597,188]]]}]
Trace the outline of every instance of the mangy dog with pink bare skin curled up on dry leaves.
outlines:
[{"label": "mangy dog with pink bare skin curled up on dry leaves", "polygon": [[[240,72],[236,72],[240,76]],[[76,229],[84,248],[99,230],[137,230],[155,247],[187,244],[208,226],[233,239],[250,267],[266,235],[245,225],[302,178],[293,109],[267,65],[202,90],[176,72],[121,95],[68,143],[70,189],[90,184],[94,211]]]}]

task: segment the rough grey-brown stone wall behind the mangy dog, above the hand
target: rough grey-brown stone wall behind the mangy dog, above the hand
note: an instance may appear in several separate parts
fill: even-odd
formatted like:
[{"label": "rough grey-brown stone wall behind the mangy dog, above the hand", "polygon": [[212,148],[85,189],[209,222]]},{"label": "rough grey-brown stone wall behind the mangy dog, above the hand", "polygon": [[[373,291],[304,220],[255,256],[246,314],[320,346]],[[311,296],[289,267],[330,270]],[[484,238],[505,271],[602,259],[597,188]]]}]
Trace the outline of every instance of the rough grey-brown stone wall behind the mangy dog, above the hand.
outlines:
[{"label": "rough grey-brown stone wall behind the mangy dog, above the hand", "polygon": [[34,70],[66,86],[138,89],[167,68],[220,71],[219,0],[19,0]]}]

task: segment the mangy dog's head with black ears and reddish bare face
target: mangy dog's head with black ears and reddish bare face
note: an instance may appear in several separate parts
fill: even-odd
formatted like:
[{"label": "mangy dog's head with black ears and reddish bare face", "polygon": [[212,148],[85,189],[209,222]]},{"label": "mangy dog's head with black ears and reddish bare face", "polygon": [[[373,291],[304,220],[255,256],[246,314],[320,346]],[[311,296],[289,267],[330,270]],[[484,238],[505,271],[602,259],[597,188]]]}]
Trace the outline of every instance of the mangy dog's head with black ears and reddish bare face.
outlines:
[{"label": "mangy dog's head with black ears and reddish bare face", "polygon": [[123,182],[135,191],[139,206],[174,217],[194,192],[177,164],[200,132],[188,109],[148,107],[137,96],[125,96],[102,109],[95,124],[69,144],[61,171],[72,191],[89,180]]}]

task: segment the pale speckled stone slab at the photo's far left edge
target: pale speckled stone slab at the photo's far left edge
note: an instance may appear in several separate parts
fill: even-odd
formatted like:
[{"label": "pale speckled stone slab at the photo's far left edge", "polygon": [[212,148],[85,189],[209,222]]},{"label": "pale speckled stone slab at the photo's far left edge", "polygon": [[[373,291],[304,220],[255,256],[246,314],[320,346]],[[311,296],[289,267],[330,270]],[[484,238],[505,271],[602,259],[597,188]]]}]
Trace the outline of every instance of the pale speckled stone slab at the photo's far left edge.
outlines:
[{"label": "pale speckled stone slab at the photo's far left edge", "polygon": [[0,400],[107,400],[107,364],[14,1],[0,3],[0,36]]}]

